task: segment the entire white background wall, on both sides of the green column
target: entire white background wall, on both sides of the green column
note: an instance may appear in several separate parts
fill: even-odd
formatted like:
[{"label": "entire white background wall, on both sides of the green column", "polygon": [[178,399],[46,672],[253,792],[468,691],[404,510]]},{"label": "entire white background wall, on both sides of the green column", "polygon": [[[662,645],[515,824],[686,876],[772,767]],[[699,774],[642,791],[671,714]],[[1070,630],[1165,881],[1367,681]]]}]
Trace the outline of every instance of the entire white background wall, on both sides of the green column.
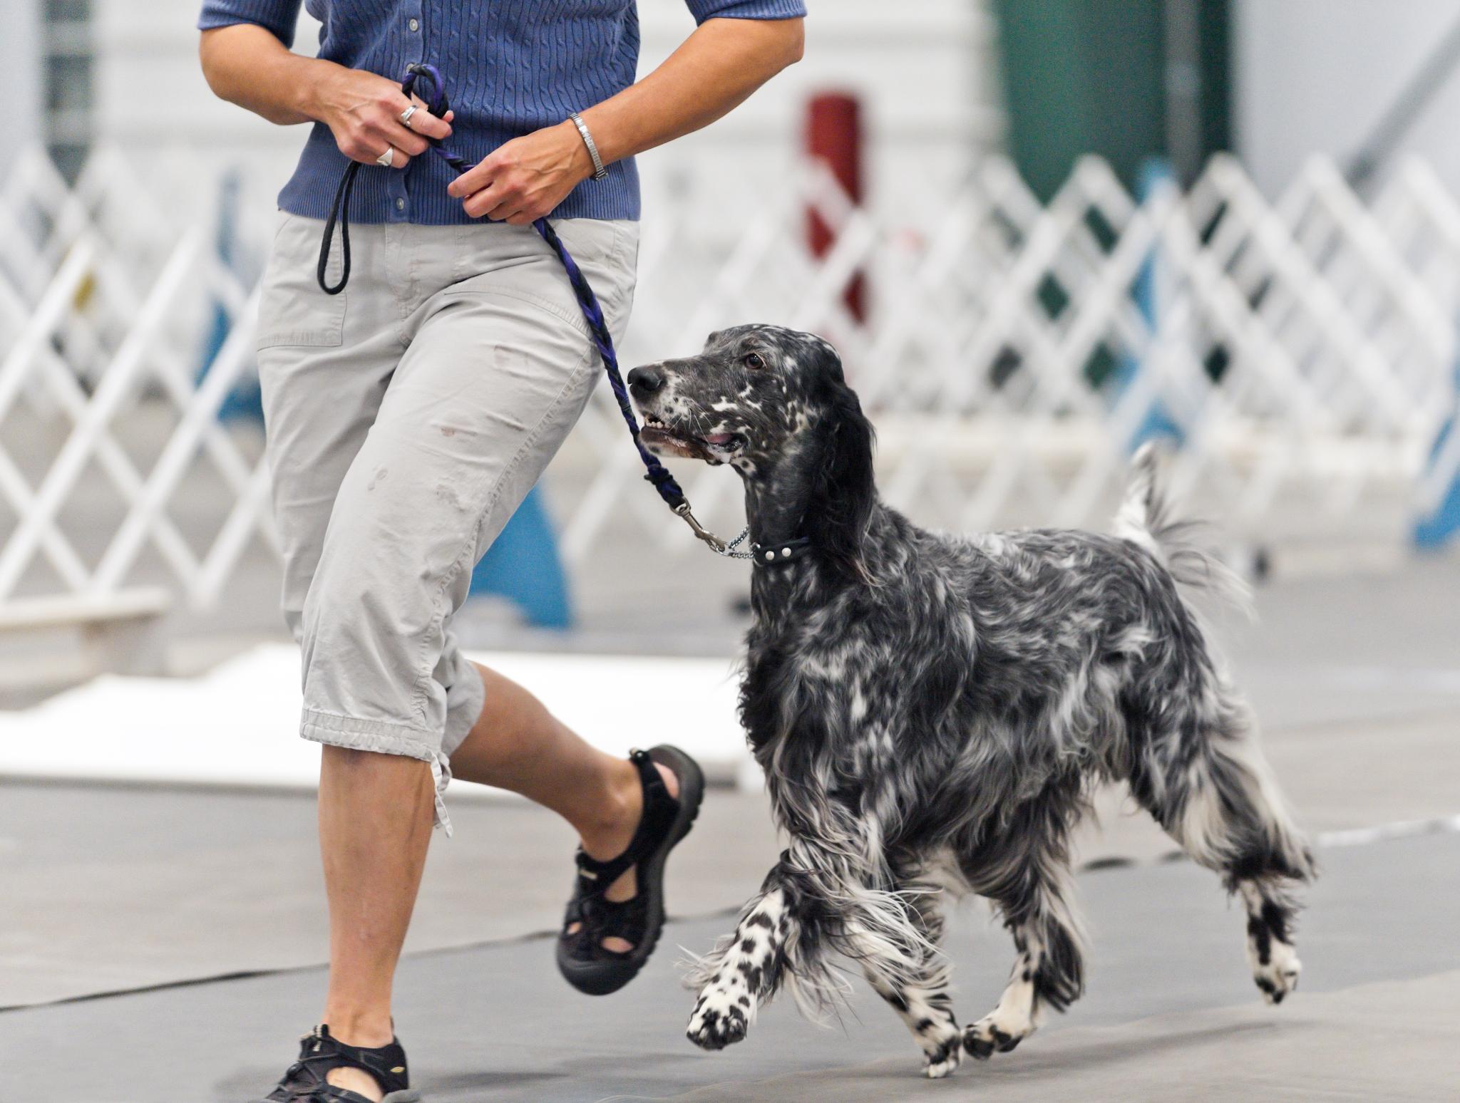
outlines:
[{"label": "entire white background wall, on both sides of the green column", "polygon": [[[0,139],[29,137],[38,99],[39,32],[28,29],[38,0],[6,0],[0,63],[15,79],[13,111]],[[98,125],[143,160],[177,166],[182,201],[206,209],[213,177],[250,169],[257,203],[285,179],[301,142],[209,93],[197,70],[193,23],[199,0],[105,0],[95,4]],[[641,0],[642,69],[692,26],[680,0]],[[931,191],[980,150],[1002,140],[994,26],[984,0],[810,0],[807,58],[734,115],[670,150],[642,159],[650,201],[677,169],[778,171],[797,147],[802,105],[815,89],[863,93],[872,139],[873,197],[895,204]],[[1349,155],[1415,66],[1460,18],[1456,0],[1238,0],[1235,131],[1238,152],[1276,194],[1313,152]],[[301,51],[312,25],[301,18]],[[1406,149],[1422,152],[1460,188],[1460,83],[1421,120]]]}]

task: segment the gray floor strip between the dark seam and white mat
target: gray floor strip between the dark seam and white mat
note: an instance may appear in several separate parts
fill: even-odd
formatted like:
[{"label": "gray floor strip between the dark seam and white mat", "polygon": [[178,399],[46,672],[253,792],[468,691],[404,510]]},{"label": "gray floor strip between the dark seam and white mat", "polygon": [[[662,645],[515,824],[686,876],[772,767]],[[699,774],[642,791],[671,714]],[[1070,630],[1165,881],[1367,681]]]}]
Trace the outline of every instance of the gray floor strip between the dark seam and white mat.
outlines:
[{"label": "gray floor strip between the dark seam and white mat", "polygon": [[[1456,713],[1269,732],[1302,824],[1371,829],[1460,813]],[[572,833],[526,801],[448,798],[407,951],[543,931],[571,878]],[[1123,792],[1098,801],[1082,862],[1172,849]],[[714,791],[670,867],[672,915],[739,905],[780,852],[764,797]],[[0,783],[0,1007],[237,970],[317,964],[326,915],[305,794]],[[166,902],[161,906],[159,902]],[[0,1091],[3,1100],[3,1091]]]}]

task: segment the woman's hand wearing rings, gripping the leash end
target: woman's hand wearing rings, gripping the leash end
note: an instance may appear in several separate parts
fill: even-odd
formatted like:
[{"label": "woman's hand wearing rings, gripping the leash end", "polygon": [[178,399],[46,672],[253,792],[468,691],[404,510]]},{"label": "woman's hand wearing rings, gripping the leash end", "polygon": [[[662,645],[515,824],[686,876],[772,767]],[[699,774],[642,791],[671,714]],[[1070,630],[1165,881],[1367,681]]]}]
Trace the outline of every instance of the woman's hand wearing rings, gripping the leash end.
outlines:
[{"label": "woman's hand wearing rings, gripping the leash end", "polygon": [[[324,64],[328,69],[315,83],[311,114],[330,128],[334,144],[350,160],[374,165],[387,149],[394,149],[390,168],[403,169],[412,158],[426,152],[426,137],[451,136],[450,111],[445,120],[437,118],[418,96],[407,99],[394,80]],[[412,104],[418,109],[407,127],[400,117]]]}]

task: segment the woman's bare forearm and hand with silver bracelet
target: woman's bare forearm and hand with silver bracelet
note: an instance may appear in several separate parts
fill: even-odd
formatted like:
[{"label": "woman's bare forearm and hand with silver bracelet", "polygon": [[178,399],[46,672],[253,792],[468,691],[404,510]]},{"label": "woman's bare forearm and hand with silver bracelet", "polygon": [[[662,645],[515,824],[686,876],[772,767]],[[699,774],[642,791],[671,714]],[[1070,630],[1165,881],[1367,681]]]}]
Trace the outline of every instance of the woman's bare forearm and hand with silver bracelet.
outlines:
[{"label": "woman's bare forearm and hand with silver bracelet", "polygon": [[[707,19],[658,69],[588,108],[604,163],[699,130],[802,57],[800,19]],[[593,175],[571,121],[512,139],[447,188],[466,213],[514,226],[540,219]]]}]

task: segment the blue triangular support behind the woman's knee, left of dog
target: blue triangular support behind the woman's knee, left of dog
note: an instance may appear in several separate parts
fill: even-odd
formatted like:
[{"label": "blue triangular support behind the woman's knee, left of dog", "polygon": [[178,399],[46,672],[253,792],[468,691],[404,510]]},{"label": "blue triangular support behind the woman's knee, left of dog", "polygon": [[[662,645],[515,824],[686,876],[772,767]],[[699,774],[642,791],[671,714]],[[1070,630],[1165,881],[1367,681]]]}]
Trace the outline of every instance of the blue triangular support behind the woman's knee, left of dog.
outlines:
[{"label": "blue triangular support behind the woman's knee, left of dog", "polygon": [[514,603],[533,627],[572,627],[568,576],[558,538],[533,487],[472,572],[472,594],[498,594]]}]

